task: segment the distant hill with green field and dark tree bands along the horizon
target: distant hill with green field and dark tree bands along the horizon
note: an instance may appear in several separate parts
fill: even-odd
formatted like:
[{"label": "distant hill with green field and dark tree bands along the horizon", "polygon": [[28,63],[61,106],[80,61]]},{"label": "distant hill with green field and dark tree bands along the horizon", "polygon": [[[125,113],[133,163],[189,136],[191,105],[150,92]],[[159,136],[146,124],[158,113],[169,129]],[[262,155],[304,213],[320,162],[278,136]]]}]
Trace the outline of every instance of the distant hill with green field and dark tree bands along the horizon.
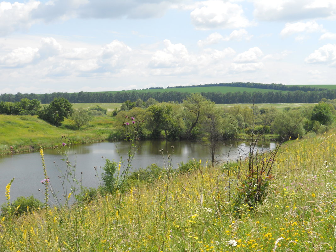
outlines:
[{"label": "distant hill with green field and dark tree bands along the horizon", "polygon": [[38,99],[49,103],[55,97],[64,97],[72,103],[124,102],[154,98],[159,102],[182,102],[191,93],[201,93],[216,103],[314,103],[322,98],[335,99],[336,85],[283,85],[252,82],[215,83],[178,87],[155,87],[139,90],[78,92],[50,94],[1,94],[0,101]]}]

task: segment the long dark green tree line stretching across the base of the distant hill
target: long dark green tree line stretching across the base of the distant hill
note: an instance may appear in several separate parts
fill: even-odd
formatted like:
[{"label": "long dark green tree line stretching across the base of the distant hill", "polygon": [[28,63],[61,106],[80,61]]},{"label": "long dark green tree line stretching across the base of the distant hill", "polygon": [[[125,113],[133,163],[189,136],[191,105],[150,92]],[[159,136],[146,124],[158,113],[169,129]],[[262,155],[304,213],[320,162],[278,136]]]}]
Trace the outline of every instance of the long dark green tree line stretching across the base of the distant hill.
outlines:
[{"label": "long dark green tree line stretching across the base of the distant hill", "polygon": [[[205,98],[219,104],[229,103],[316,103],[321,99],[335,99],[336,89],[323,89],[322,91],[269,91],[269,92],[201,92]],[[50,103],[54,98],[61,97],[71,103],[82,102],[117,102],[122,103],[126,100],[136,101],[137,99],[148,100],[154,98],[159,102],[176,101],[181,103],[190,93],[165,91],[165,92],[139,92],[139,91],[120,91],[120,92],[78,92],[62,93],[54,92],[50,94],[1,94],[0,101],[17,102],[23,98],[36,99],[41,103]]]}]

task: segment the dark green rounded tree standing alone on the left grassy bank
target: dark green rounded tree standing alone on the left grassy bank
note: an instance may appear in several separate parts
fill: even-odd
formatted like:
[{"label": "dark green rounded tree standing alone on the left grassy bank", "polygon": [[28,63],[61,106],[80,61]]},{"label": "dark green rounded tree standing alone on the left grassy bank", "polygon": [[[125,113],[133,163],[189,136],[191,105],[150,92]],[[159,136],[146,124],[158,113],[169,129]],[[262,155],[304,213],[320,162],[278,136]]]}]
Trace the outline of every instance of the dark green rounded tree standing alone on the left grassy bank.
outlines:
[{"label": "dark green rounded tree standing alone on the left grassy bank", "polygon": [[72,113],[72,104],[65,98],[54,98],[48,106],[43,106],[38,117],[55,126],[60,126]]}]

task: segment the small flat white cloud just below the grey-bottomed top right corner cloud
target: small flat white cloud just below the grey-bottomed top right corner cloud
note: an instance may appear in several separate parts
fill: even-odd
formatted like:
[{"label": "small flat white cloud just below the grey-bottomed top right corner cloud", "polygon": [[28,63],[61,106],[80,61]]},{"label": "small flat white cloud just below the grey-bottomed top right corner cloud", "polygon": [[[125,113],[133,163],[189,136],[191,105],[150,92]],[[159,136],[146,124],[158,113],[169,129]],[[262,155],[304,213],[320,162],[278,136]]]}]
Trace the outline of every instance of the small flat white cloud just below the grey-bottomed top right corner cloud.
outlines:
[{"label": "small flat white cloud just below the grey-bottomed top right corner cloud", "polygon": [[281,31],[281,36],[289,36],[300,32],[322,32],[323,25],[319,25],[316,21],[308,21],[306,23],[286,23],[285,28]]}]

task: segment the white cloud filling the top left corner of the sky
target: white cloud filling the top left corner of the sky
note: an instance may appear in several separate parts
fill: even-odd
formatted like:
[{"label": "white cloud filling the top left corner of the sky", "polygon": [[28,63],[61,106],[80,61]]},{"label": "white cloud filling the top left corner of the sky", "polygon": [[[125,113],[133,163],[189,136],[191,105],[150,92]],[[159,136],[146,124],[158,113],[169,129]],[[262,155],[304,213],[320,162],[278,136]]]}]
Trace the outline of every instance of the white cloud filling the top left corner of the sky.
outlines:
[{"label": "white cloud filling the top left corner of the sky", "polygon": [[0,2],[0,36],[30,28],[37,22],[31,18],[32,11],[39,5],[39,1],[33,0],[27,3]]}]

